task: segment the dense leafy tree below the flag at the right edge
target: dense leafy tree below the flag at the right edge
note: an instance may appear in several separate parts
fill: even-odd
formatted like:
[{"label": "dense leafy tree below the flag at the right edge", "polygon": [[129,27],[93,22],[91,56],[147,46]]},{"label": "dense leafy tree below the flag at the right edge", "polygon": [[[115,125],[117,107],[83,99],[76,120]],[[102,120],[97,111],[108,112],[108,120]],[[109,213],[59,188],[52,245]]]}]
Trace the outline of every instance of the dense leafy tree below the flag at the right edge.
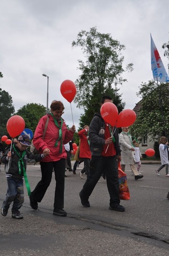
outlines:
[{"label": "dense leafy tree below the flag at the right edge", "polygon": [[140,110],[136,122],[131,126],[131,134],[135,134],[140,140],[144,136],[149,136],[153,141],[159,140],[159,137],[165,136],[164,127],[166,133],[169,133],[169,84],[157,85],[151,80],[147,84],[142,83],[139,88],[137,95],[141,96],[142,100],[138,103]]}]

